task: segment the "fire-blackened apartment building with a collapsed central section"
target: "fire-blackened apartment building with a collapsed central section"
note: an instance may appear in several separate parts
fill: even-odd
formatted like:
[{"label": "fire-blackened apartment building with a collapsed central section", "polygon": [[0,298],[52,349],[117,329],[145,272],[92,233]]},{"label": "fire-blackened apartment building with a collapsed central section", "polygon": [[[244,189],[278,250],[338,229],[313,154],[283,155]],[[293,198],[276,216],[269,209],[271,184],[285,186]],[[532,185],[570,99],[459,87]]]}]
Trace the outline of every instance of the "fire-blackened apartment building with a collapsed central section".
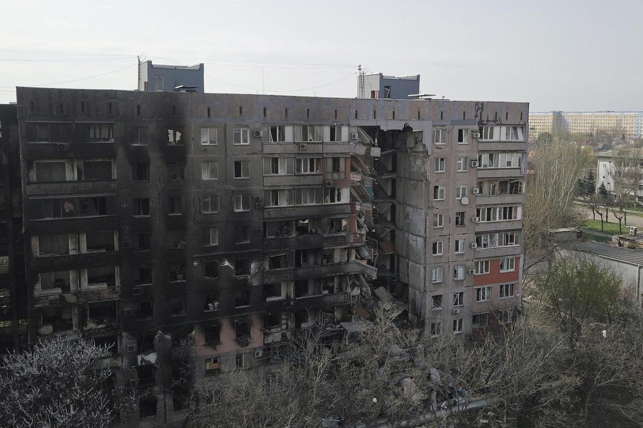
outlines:
[{"label": "fire-blackened apartment building with a collapsed central section", "polygon": [[17,100],[21,327],[29,343],[113,344],[120,381],[145,391],[132,424],[183,419],[190,388],[166,346],[194,343],[194,377],[215,379],[260,370],[320,317],[352,321],[372,290],[427,334],[463,338],[520,303],[527,103],[28,87]]}]

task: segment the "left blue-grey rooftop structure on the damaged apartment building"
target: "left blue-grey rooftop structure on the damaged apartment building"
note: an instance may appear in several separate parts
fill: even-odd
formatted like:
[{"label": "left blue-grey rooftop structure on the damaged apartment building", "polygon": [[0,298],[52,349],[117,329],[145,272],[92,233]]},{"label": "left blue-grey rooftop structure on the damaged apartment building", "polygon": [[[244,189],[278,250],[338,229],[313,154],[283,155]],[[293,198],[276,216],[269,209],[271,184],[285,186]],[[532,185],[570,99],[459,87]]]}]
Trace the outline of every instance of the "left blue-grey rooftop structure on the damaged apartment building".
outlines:
[{"label": "left blue-grey rooftop structure on the damaged apartment building", "polygon": [[203,64],[167,66],[141,62],[138,66],[138,90],[149,92],[190,92],[203,94]]}]

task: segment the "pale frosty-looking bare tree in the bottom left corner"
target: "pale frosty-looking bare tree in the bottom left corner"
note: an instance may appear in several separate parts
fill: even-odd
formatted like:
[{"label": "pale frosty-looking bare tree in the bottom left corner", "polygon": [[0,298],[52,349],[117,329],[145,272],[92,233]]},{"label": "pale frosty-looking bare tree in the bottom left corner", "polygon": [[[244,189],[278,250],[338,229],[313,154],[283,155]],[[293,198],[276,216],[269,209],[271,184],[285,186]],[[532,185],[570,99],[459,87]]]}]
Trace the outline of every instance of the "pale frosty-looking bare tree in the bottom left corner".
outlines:
[{"label": "pale frosty-looking bare tree in the bottom left corner", "polygon": [[0,364],[0,420],[7,427],[102,428],[116,406],[109,346],[55,337]]}]

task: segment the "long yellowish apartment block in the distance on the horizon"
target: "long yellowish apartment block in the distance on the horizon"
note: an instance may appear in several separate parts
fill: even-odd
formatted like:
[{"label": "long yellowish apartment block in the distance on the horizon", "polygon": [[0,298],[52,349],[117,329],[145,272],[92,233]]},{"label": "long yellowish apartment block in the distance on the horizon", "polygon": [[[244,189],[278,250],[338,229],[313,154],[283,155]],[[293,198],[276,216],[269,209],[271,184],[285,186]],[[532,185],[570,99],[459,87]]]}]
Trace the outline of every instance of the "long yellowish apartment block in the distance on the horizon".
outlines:
[{"label": "long yellowish apartment block in the distance on the horizon", "polygon": [[556,130],[574,134],[617,130],[629,138],[642,138],[643,112],[530,112],[529,127],[533,137]]}]

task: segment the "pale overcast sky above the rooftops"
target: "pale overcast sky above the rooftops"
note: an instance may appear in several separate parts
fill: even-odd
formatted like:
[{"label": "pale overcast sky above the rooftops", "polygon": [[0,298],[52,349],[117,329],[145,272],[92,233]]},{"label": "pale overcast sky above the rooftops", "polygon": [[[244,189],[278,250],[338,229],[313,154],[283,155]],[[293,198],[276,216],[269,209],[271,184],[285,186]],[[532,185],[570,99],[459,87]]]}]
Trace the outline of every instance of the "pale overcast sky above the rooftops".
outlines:
[{"label": "pale overcast sky above the rooftops", "polygon": [[134,89],[144,53],[204,62],[213,93],[354,97],[362,64],[451,100],[643,111],[642,0],[98,4],[3,0],[0,103],[17,85]]}]

